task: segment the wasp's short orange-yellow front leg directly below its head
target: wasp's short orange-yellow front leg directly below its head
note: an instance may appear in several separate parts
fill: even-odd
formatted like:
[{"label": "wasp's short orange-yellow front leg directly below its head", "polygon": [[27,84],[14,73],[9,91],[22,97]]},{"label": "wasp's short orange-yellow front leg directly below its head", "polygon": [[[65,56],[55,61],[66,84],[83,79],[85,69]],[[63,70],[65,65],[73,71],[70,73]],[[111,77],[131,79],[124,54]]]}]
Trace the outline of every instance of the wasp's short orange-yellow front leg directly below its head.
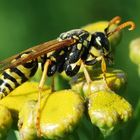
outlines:
[{"label": "wasp's short orange-yellow front leg directly below its head", "polygon": [[101,69],[102,69],[102,72],[103,72],[103,80],[105,81],[106,87],[108,89],[110,89],[109,86],[108,86],[107,80],[106,80],[106,62],[105,62],[104,57],[102,57],[102,59],[101,59]]}]

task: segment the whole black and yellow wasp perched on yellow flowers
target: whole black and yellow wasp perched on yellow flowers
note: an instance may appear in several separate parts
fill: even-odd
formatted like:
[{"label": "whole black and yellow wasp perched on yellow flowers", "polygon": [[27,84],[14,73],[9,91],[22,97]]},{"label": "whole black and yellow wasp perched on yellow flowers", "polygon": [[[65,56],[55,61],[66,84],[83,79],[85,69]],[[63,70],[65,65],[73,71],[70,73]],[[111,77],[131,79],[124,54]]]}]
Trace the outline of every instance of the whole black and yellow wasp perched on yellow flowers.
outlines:
[{"label": "whole black and yellow wasp perched on yellow flowers", "polygon": [[[39,62],[43,70],[39,83],[39,101],[46,76],[53,76],[56,72],[65,71],[66,75],[72,77],[78,73],[80,67],[83,67],[86,81],[90,83],[91,79],[85,66],[93,66],[100,62],[103,79],[106,81],[106,61],[111,59],[111,46],[108,38],[127,26],[130,26],[129,30],[135,28],[132,21],[118,25],[120,21],[119,16],[114,17],[104,32],[90,33],[82,29],[70,30],[60,34],[58,39],[29,48],[0,62],[0,98],[2,99],[34,76]],[[113,31],[109,31],[113,24],[118,26]]]}]

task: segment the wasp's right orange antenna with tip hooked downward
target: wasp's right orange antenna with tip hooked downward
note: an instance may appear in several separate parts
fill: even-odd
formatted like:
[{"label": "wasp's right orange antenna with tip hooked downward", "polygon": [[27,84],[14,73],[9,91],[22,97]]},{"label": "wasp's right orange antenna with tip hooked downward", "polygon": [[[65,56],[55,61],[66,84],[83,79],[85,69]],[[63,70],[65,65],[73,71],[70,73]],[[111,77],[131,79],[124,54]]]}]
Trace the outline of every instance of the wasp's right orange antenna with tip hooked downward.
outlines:
[{"label": "wasp's right orange antenna with tip hooked downward", "polygon": [[114,31],[107,33],[107,36],[111,36],[112,34],[114,34],[115,32],[118,32],[120,30],[122,30],[123,28],[130,26],[130,28],[128,29],[129,31],[134,30],[135,29],[135,23],[133,21],[127,21],[121,25],[119,25]]}]

